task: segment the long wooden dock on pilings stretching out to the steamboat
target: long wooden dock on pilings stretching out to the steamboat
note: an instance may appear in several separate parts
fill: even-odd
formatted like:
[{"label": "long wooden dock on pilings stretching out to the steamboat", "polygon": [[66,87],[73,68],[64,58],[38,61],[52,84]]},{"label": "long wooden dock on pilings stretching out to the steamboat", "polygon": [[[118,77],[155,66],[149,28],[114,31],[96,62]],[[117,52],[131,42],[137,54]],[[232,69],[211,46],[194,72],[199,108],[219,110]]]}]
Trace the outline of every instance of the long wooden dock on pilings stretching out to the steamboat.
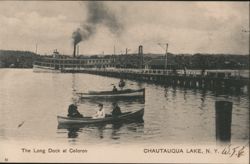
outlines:
[{"label": "long wooden dock on pilings stretching out to the steamboat", "polygon": [[[207,71],[204,74],[173,72],[170,70],[147,69],[65,69],[65,73],[88,73],[108,77],[130,79],[158,84],[168,84],[191,88],[249,87],[249,78],[231,72]],[[248,90],[249,91],[249,90]]]}]

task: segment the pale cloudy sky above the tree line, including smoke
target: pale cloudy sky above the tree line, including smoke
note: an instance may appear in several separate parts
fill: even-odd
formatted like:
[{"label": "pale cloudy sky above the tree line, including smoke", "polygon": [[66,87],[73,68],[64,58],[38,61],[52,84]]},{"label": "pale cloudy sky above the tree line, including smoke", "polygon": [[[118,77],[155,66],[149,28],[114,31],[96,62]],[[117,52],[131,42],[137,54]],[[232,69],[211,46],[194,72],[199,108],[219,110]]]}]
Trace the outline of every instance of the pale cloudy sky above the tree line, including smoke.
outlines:
[{"label": "pale cloudy sky above the tree line, including smoke", "polygon": [[249,2],[0,2],[0,49],[72,55],[77,30],[80,54],[249,54]]}]

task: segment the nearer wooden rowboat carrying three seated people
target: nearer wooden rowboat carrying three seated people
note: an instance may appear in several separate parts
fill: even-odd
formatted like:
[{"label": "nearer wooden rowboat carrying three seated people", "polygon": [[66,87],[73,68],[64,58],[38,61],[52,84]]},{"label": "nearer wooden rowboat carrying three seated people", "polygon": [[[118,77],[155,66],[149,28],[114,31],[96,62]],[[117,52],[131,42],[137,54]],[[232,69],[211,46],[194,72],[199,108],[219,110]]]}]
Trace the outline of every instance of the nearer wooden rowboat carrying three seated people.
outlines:
[{"label": "nearer wooden rowboat carrying three seated people", "polygon": [[58,124],[96,124],[96,123],[117,123],[117,122],[126,122],[126,121],[139,121],[143,120],[144,108],[134,111],[134,112],[124,112],[120,116],[112,117],[111,115],[106,116],[105,118],[92,118],[92,117],[83,117],[83,118],[72,118],[57,116]]}]

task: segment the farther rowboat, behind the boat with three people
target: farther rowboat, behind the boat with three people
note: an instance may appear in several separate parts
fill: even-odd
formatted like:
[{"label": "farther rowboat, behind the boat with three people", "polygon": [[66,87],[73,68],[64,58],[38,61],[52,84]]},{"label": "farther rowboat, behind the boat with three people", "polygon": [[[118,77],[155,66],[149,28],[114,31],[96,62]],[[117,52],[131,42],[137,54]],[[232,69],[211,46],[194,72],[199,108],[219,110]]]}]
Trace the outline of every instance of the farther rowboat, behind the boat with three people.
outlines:
[{"label": "farther rowboat, behind the boat with three people", "polygon": [[118,91],[90,91],[88,93],[76,93],[82,99],[109,99],[109,98],[135,98],[135,97],[145,97],[145,88],[132,90],[118,90]]}]

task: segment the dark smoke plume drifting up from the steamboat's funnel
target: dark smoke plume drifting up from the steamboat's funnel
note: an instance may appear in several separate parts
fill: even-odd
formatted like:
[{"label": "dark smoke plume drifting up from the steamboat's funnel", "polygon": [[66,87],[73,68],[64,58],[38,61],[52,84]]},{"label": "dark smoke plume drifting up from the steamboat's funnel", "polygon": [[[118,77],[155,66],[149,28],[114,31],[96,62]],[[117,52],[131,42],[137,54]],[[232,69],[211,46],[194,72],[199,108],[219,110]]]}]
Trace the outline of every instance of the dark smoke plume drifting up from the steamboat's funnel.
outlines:
[{"label": "dark smoke plume drifting up from the steamboat's funnel", "polygon": [[74,45],[88,40],[96,33],[97,25],[105,25],[110,32],[119,35],[123,30],[122,23],[117,19],[115,13],[110,11],[103,2],[87,2],[87,20],[73,32]]}]

